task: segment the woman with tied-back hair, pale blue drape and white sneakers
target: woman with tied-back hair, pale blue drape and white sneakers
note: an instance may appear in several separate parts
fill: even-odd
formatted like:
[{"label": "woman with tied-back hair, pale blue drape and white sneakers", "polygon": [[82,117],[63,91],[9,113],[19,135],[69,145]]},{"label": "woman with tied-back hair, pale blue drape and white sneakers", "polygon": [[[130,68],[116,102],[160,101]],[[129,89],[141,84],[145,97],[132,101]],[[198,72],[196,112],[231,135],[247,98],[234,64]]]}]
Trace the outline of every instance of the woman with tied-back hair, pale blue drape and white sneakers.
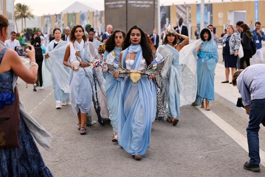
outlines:
[{"label": "woman with tied-back hair, pale blue drape and white sneakers", "polygon": [[[43,78],[43,84],[44,87],[49,87],[53,86],[54,89],[54,97],[56,101],[56,109],[61,109],[61,102],[62,101],[62,106],[66,106],[67,104],[67,99],[69,98],[69,88],[65,88],[64,86],[67,85],[66,82],[64,82],[64,76],[69,76],[69,68],[65,67],[62,62],[63,62],[63,56],[55,56],[55,57],[50,57],[49,52],[51,52],[54,49],[58,49],[60,47],[64,47],[67,45],[66,41],[62,41],[61,37],[61,30],[59,28],[55,28],[53,30],[53,35],[55,37],[54,40],[52,40],[49,45],[47,46],[47,52],[45,53],[45,59],[44,63],[42,65],[42,76]],[[61,50],[61,53],[64,52]],[[59,56],[59,57],[58,57]],[[49,64],[51,63],[51,64]],[[47,69],[46,69],[47,68]],[[50,85],[48,82],[46,82],[46,73],[43,73],[45,71],[49,71],[49,75],[51,75],[52,78],[52,85]],[[59,72],[61,71],[61,72]],[[62,73],[60,75],[60,73]],[[47,79],[49,80],[49,79]]]}]

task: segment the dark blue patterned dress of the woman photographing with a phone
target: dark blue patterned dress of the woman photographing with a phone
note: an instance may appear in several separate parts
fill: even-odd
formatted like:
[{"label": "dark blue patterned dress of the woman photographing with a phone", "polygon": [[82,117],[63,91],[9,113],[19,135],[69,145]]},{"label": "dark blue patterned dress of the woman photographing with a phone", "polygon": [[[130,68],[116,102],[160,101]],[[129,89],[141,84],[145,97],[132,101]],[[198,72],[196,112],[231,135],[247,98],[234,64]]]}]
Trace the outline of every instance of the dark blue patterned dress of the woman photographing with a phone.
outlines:
[{"label": "dark blue patterned dress of the woman photographing with a phone", "polygon": [[[0,52],[0,64],[5,52],[6,48]],[[0,109],[14,101],[12,82],[12,70],[0,74]],[[52,176],[22,116],[18,138],[20,148],[0,148],[0,176]]]}]

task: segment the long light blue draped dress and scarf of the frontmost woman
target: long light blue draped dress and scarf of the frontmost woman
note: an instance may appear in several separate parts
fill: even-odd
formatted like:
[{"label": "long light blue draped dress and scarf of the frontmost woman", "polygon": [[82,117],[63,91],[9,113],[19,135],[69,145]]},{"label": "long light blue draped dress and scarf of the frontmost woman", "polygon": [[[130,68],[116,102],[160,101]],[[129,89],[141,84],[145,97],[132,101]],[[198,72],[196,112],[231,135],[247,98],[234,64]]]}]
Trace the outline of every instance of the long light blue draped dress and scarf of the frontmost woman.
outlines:
[{"label": "long light blue draped dress and scarf of the frontmost woman", "polygon": [[[138,45],[130,45],[122,53],[122,65],[126,66],[127,53],[137,53],[131,69],[143,64],[143,51]],[[118,143],[131,155],[144,155],[150,145],[153,116],[153,94],[150,80],[141,77],[135,84],[130,77],[122,78],[118,114]]]}]

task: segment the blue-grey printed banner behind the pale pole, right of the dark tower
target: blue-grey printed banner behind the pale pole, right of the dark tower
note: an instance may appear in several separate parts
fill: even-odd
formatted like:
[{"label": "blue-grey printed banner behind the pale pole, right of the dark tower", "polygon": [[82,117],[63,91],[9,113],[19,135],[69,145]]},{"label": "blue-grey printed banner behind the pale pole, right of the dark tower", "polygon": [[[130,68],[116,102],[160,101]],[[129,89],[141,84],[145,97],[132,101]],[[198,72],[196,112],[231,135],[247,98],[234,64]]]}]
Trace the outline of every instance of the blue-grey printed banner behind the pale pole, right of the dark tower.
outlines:
[{"label": "blue-grey printed banner behind the pale pole, right of the dark tower", "polygon": [[[213,4],[204,6],[204,24],[213,24]],[[197,27],[200,29],[201,24],[201,4],[197,4]]]}]

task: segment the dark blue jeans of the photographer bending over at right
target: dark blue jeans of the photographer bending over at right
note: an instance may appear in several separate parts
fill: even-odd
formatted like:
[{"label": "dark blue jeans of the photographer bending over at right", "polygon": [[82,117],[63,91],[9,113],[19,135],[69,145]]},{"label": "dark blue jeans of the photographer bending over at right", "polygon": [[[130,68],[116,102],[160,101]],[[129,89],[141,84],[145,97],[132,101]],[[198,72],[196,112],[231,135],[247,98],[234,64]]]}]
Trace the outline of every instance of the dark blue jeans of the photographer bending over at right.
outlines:
[{"label": "dark blue jeans of the photographer bending over at right", "polygon": [[265,99],[251,100],[249,125],[246,129],[249,145],[249,162],[259,164],[259,124],[265,118]]}]

